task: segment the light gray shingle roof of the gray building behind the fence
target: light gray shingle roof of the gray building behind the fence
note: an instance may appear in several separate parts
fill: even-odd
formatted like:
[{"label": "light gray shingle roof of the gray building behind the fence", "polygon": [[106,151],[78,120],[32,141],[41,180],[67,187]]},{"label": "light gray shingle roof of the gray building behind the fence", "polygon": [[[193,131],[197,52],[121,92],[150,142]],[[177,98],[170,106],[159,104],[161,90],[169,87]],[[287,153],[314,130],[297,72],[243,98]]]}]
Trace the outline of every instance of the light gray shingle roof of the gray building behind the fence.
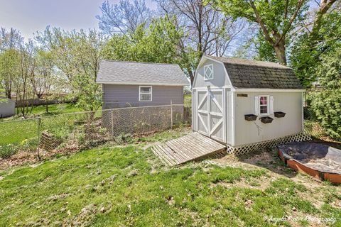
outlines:
[{"label": "light gray shingle roof of the gray building behind the fence", "polygon": [[99,63],[96,82],[99,84],[189,85],[179,65],[109,60]]}]

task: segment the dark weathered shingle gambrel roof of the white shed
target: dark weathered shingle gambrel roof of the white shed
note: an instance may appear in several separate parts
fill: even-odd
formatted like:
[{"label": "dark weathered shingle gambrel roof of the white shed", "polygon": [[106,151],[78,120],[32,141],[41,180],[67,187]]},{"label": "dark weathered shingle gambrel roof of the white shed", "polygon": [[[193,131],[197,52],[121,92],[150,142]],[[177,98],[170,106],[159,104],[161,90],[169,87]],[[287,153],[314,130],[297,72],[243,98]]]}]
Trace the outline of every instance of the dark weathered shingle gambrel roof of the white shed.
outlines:
[{"label": "dark weathered shingle gambrel roof of the white shed", "polygon": [[224,64],[236,88],[302,89],[293,69],[274,62],[206,56]]}]

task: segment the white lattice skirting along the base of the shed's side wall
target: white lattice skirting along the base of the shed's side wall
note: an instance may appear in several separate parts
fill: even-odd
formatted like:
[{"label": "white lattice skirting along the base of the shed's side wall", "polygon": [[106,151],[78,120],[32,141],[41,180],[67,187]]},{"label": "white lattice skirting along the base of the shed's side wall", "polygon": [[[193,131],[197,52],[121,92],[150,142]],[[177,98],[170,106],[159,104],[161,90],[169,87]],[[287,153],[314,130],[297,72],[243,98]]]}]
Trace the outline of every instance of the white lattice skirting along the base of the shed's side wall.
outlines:
[{"label": "white lattice skirting along the base of the shed's side wall", "polygon": [[282,138],[276,138],[274,140],[266,140],[264,142],[259,143],[250,143],[247,145],[241,145],[238,147],[232,147],[230,145],[227,145],[227,153],[234,154],[234,155],[244,155],[247,153],[251,153],[256,150],[260,150],[262,148],[274,148],[277,145],[285,144],[285,143],[291,143],[291,142],[301,142],[311,140],[311,137],[308,133],[301,132],[294,135],[288,135]]}]

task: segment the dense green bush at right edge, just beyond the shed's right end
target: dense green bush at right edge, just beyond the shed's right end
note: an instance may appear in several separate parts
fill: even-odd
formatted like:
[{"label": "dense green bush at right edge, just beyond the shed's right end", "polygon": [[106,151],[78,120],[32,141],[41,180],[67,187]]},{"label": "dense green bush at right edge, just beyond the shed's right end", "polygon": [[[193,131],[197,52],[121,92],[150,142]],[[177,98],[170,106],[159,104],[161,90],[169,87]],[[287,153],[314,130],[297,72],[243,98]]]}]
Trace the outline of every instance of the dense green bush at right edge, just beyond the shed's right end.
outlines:
[{"label": "dense green bush at right edge, just beyond the shed's right end", "polygon": [[341,89],[315,92],[311,109],[326,135],[341,140]]}]

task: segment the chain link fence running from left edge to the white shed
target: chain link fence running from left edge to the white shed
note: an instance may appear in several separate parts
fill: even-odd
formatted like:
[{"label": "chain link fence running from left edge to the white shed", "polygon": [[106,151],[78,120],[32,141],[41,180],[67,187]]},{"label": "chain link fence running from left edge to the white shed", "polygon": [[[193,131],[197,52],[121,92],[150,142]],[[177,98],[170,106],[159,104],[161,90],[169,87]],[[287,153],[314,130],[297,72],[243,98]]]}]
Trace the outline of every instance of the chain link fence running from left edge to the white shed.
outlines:
[{"label": "chain link fence running from left edge to the white shed", "polygon": [[0,122],[0,168],[190,125],[190,106],[127,107]]}]

